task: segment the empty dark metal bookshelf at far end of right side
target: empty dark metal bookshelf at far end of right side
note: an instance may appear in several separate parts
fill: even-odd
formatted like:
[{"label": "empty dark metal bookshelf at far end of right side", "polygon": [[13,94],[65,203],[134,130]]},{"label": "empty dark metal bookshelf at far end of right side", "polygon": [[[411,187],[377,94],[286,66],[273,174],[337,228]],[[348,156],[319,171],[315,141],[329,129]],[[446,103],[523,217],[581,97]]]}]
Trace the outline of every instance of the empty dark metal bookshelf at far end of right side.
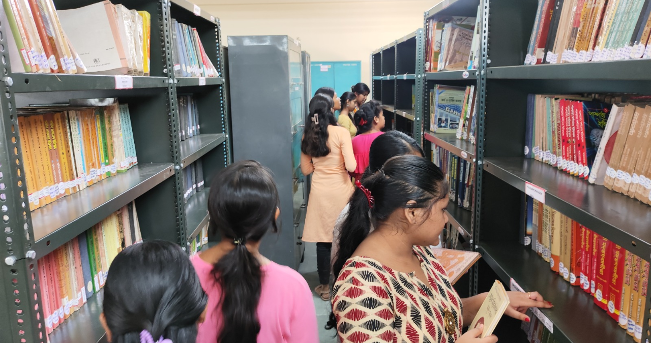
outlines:
[{"label": "empty dark metal bookshelf at far end of right side", "polygon": [[417,141],[422,141],[423,32],[417,29],[370,54],[372,99],[383,104],[385,130],[402,131]]}]

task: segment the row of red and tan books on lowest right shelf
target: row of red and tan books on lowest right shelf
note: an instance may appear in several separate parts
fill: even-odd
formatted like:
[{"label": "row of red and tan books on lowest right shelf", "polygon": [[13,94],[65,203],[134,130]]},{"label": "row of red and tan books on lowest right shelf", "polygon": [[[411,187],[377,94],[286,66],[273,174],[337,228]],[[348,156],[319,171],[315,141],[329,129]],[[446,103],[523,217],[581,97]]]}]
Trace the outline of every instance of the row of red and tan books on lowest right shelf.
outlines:
[{"label": "row of red and tan books on lowest right shelf", "polygon": [[649,262],[538,200],[527,197],[525,207],[523,225],[536,253],[640,342]]}]

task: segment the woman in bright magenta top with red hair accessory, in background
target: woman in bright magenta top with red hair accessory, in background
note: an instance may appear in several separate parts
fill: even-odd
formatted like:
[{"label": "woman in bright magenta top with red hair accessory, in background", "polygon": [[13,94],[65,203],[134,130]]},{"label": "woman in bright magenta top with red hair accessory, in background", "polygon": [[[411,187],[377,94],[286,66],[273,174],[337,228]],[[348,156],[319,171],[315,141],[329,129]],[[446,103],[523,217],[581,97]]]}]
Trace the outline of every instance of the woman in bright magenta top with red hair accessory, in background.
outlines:
[{"label": "woman in bright magenta top with red hair accessory, in background", "polygon": [[357,135],[353,138],[353,154],[355,154],[357,167],[352,173],[355,181],[361,180],[362,174],[368,167],[368,150],[370,150],[370,144],[383,133],[384,122],[382,106],[376,100],[365,103],[355,113]]}]

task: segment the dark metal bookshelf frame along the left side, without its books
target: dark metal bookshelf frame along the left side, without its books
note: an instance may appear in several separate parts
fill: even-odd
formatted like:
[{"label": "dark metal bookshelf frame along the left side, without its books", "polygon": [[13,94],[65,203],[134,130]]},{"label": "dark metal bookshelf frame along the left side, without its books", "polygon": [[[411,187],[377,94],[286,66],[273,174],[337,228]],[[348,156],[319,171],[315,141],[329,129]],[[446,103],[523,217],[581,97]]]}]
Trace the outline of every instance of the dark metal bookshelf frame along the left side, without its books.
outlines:
[{"label": "dark metal bookshelf frame along the left side, without its books", "polygon": [[[59,10],[90,5],[92,0],[55,0]],[[38,259],[72,240],[110,213],[135,200],[145,239],[187,246],[207,222],[208,185],[230,163],[229,117],[219,19],[186,0],[125,0],[122,4],[151,14],[150,74],[133,77],[133,89],[116,90],[112,75],[29,74],[12,72],[7,49],[0,49],[0,202],[3,211],[4,263],[0,268],[0,342],[45,343],[45,322],[36,273]],[[197,14],[195,14],[197,13]],[[170,22],[196,27],[204,49],[221,77],[175,77]],[[7,23],[0,22],[0,46],[7,46]],[[178,137],[177,94],[192,94],[199,108],[201,135]],[[113,98],[130,107],[138,165],[57,200],[27,210],[17,107],[67,102],[72,98]],[[187,204],[182,169],[201,159],[206,188]],[[49,335],[51,343],[105,342],[99,322],[102,292]]]}]

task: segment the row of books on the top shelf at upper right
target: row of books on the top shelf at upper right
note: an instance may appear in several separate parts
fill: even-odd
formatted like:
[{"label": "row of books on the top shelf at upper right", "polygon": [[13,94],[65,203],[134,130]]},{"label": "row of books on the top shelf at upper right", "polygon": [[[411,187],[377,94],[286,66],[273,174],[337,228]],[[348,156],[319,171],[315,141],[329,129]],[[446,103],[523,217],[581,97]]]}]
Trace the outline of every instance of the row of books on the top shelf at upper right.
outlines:
[{"label": "row of books on the top shelf at upper right", "polygon": [[525,64],[651,57],[646,0],[538,0]]}]

